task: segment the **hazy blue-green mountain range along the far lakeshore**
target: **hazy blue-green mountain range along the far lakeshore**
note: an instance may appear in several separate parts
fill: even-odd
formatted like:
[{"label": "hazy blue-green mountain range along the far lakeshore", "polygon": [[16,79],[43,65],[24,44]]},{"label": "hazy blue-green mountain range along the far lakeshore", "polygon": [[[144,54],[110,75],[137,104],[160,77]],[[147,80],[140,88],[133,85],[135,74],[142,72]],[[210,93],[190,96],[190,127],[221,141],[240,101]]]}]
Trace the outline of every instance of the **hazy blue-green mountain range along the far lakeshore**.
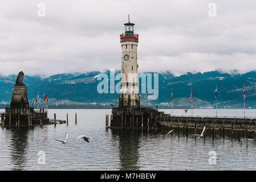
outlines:
[{"label": "hazy blue-green mountain range along the far lakeshore", "polygon": [[[108,76],[110,71],[105,72]],[[120,73],[116,72],[115,74]],[[28,99],[48,94],[49,105],[95,105],[110,106],[119,100],[118,93],[98,93],[97,80],[100,72],[64,73],[42,78],[40,76],[24,76],[27,85]],[[153,73],[152,73],[153,75]],[[12,86],[17,75],[0,76],[0,103],[11,101]],[[152,78],[153,80],[153,78]],[[120,80],[116,80],[115,84]],[[215,90],[217,86],[218,108],[243,108],[243,85],[245,85],[246,108],[256,108],[256,72],[245,74],[222,73],[211,71],[205,73],[186,73],[174,76],[170,72],[159,73],[159,97],[148,100],[148,93],[140,94],[141,105],[170,107],[170,95],[173,90],[174,108],[191,106],[190,93],[193,88],[193,107],[214,108],[216,104]],[[140,84],[141,86],[141,84]],[[110,87],[110,85],[109,85]],[[141,89],[140,89],[141,92]],[[117,103],[118,104],[118,103]],[[63,107],[63,106],[62,106]],[[90,106],[87,106],[90,107]]]}]

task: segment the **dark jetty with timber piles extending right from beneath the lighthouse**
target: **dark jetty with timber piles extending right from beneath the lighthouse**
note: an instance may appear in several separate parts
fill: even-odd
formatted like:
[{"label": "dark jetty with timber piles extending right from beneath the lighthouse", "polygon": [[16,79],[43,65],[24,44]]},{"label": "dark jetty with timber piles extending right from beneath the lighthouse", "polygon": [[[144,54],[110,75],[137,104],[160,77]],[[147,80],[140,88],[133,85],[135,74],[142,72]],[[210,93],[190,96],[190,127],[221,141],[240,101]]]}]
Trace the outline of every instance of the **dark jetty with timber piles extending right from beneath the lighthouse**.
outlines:
[{"label": "dark jetty with timber piles extending right from beneath the lighthouse", "polygon": [[178,129],[192,133],[256,134],[256,119],[171,116],[152,107],[113,107],[111,129]]}]

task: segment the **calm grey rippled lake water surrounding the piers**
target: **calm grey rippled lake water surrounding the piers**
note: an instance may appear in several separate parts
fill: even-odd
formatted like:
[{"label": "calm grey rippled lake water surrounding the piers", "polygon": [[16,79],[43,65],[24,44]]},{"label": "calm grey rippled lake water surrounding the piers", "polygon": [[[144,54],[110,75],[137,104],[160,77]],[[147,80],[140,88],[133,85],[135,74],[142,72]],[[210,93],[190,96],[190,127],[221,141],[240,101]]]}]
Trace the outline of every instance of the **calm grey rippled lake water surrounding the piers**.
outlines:
[{"label": "calm grey rippled lake water surrounding the piers", "polygon": [[[3,110],[0,110],[0,112]],[[170,113],[170,110],[162,110]],[[78,124],[75,125],[75,112]],[[186,115],[190,115],[186,113]],[[175,130],[105,130],[105,114],[101,109],[51,109],[48,117],[66,120],[68,126],[0,127],[0,170],[255,170],[256,139],[205,135],[197,139]],[[173,110],[174,115],[185,115]],[[194,109],[193,115],[215,116],[214,109]],[[243,117],[243,110],[220,109],[218,114]],[[256,110],[246,110],[255,118]],[[55,139],[64,140],[66,144]],[[76,139],[92,137],[90,143]],[[46,155],[46,164],[38,164],[38,152]],[[209,155],[210,154],[210,155]],[[216,154],[216,155],[211,155]],[[216,156],[216,164],[209,159]],[[211,160],[212,161],[212,160]],[[210,161],[210,162],[211,162]]]}]

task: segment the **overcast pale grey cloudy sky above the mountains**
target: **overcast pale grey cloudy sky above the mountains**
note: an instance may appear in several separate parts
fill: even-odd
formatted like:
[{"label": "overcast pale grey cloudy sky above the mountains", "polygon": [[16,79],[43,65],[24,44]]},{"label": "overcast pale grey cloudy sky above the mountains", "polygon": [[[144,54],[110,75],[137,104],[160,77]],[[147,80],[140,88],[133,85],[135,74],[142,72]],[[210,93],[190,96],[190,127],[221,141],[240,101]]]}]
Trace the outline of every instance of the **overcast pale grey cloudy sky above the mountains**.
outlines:
[{"label": "overcast pale grey cloudy sky above the mountains", "polygon": [[256,69],[255,0],[9,0],[0,6],[0,74],[120,69],[128,14],[139,34],[139,72]]}]

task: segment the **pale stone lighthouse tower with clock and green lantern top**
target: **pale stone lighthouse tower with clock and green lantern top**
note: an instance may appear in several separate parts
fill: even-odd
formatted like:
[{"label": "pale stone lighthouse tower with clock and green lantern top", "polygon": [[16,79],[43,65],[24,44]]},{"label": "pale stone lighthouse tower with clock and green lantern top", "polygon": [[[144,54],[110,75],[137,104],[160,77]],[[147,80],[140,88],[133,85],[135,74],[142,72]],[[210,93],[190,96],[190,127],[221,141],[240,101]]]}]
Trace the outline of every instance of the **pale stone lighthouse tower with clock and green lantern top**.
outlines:
[{"label": "pale stone lighthouse tower with clock and green lantern top", "polygon": [[119,107],[140,107],[137,64],[139,35],[134,34],[134,25],[128,15],[128,23],[124,24],[125,33],[120,35],[122,65]]}]

